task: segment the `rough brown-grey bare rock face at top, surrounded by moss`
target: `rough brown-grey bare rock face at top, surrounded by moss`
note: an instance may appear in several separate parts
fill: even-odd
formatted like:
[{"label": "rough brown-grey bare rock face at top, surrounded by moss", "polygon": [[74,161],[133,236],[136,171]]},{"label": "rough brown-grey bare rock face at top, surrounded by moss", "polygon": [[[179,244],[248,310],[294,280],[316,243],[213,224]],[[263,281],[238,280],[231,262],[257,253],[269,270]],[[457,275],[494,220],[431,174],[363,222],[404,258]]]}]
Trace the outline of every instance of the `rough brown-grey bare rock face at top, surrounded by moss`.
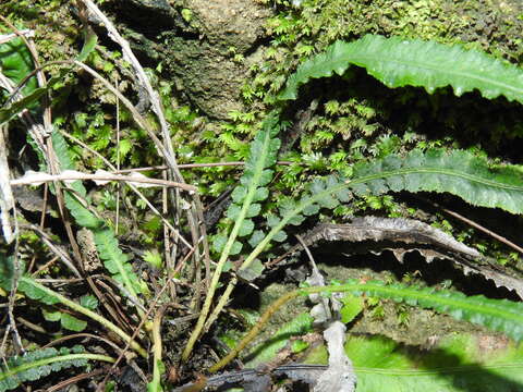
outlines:
[{"label": "rough brown-grey bare rock face at top, surrounded by moss", "polygon": [[153,37],[143,24],[147,23],[144,15],[130,13],[130,19],[142,24],[132,27],[141,34],[136,48],[161,61],[168,78],[175,78],[180,95],[208,117],[224,119],[228,112],[242,110],[241,86],[266,40],[264,25],[271,10],[254,0],[163,3],[133,0],[136,9],[147,10],[148,23],[158,13],[166,27]]}]

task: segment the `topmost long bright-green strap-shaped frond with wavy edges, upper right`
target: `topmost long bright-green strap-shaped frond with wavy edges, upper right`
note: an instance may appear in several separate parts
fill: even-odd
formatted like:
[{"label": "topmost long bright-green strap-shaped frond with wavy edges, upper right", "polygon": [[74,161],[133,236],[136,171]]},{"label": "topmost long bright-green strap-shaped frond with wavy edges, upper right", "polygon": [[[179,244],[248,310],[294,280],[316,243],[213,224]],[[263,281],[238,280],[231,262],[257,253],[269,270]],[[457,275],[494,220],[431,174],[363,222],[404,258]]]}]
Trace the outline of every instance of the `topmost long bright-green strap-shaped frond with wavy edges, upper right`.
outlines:
[{"label": "topmost long bright-green strap-shaped frond with wavy edges, upper right", "polygon": [[433,93],[452,86],[455,95],[478,89],[488,99],[504,96],[523,103],[523,71],[486,53],[433,41],[366,35],[353,42],[337,41],[289,77],[279,99],[295,99],[311,78],[342,75],[360,65],[388,87],[418,86]]}]

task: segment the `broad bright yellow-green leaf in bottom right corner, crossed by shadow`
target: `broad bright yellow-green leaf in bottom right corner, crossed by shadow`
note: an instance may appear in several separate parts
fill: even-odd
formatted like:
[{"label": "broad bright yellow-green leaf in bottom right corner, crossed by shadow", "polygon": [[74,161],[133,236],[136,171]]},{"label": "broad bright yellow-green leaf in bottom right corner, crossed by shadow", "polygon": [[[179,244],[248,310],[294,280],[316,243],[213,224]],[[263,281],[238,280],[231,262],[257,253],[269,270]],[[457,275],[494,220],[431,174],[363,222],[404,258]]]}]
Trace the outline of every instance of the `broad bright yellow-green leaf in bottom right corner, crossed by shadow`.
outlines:
[{"label": "broad bright yellow-green leaf in bottom right corner, crossed by shadow", "polygon": [[[523,387],[523,345],[494,336],[450,334],[429,350],[385,336],[348,335],[345,353],[357,376],[357,392],[511,392]],[[327,364],[325,346],[303,360]]]}]

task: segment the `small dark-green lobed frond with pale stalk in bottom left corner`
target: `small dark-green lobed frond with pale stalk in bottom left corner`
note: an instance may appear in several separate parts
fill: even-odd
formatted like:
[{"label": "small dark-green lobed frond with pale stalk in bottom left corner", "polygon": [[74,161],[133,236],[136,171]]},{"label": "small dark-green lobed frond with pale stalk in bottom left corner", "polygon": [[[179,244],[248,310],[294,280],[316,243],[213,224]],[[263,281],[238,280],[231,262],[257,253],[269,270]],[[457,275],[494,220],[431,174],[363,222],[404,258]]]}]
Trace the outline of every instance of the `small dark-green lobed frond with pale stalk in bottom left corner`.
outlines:
[{"label": "small dark-green lobed frond with pale stalk in bottom left corner", "polygon": [[0,364],[0,392],[19,388],[23,382],[36,381],[51,371],[86,366],[88,360],[114,363],[110,356],[85,353],[78,345],[60,350],[48,347],[9,358]]}]

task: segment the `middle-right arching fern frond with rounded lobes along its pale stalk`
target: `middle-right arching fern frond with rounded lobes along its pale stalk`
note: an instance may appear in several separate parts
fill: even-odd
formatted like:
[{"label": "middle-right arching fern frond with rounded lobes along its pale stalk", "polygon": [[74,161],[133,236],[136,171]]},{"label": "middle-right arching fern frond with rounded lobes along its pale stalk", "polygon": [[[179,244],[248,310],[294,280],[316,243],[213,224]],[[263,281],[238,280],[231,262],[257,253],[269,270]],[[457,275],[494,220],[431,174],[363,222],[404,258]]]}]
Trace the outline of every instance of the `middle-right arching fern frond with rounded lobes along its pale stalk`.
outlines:
[{"label": "middle-right arching fern frond with rounded lobes along its pale stalk", "polygon": [[246,269],[263,249],[275,240],[287,224],[300,224],[306,216],[320,208],[336,208],[357,196],[387,192],[450,193],[481,207],[501,208],[523,213],[523,175],[510,166],[490,166],[469,151],[431,149],[411,151],[406,157],[390,155],[381,160],[354,167],[351,180],[329,176],[308,184],[297,203],[280,207],[280,217],[268,220],[271,231],[245,259]]}]

